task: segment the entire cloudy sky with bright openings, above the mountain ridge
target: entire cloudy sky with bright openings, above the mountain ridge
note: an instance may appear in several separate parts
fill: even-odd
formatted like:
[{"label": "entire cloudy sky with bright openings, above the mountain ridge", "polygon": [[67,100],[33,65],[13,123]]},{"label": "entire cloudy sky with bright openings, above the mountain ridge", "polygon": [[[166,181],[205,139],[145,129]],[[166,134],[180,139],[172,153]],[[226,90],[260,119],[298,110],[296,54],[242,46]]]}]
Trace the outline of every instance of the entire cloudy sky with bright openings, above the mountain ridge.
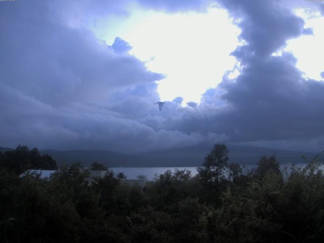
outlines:
[{"label": "entire cloudy sky with bright openings, above the mountain ridge", "polygon": [[0,146],[321,151],[321,26],[322,1],[0,2]]}]

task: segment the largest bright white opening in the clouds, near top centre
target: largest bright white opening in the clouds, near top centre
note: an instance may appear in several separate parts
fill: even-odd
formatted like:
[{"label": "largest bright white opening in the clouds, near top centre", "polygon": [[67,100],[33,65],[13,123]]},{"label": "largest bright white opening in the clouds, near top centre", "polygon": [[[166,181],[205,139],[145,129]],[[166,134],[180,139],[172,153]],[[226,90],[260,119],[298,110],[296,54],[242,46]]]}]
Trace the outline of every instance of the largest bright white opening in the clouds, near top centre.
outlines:
[{"label": "largest bright white opening in the clouds, near top centre", "polygon": [[[158,82],[161,101],[181,96],[183,105],[199,103],[201,94],[234,68],[236,59],[230,53],[239,45],[240,29],[225,10],[177,14],[136,10],[118,18],[102,20],[97,35],[108,45],[116,36],[123,38],[133,47],[130,53],[145,61],[149,70],[166,75]],[[237,75],[233,71],[230,78]]]}]

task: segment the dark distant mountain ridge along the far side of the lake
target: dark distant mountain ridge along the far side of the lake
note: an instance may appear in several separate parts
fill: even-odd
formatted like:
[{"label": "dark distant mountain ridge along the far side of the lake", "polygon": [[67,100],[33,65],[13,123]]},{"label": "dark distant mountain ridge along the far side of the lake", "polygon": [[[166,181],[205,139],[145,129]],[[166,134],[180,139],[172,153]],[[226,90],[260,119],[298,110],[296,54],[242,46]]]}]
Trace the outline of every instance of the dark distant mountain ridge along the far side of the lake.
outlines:
[{"label": "dark distant mountain ridge along the far side of the lake", "polygon": [[[298,152],[280,149],[269,149],[252,146],[227,145],[229,148],[229,161],[238,164],[256,165],[262,155],[275,154],[281,164],[305,163],[301,155],[308,160],[316,153]],[[200,166],[205,156],[212,147],[199,145],[187,148],[174,148],[138,154],[125,154],[108,150],[40,150],[41,154],[50,154],[58,166],[70,165],[80,161],[84,166],[89,166],[97,161],[108,167],[196,167]],[[0,147],[6,152],[11,148]]]}]

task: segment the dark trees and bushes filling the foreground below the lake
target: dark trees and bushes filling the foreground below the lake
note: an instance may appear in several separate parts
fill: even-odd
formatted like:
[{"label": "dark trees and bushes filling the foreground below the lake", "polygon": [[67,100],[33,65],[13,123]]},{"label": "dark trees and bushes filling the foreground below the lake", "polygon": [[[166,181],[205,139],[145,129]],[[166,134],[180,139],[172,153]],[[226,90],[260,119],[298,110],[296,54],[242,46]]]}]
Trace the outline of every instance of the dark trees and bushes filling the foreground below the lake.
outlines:
[{"label": "dark trees and bushes filling the foreground below the lake", "polygon": [[274,156],[262,157],[244,170],[227,163],[228,152],[216,144],[197,176],[167,171],[140,188],[109,170],[88,186],[79,164],[49,180],[19,177],[56,169],[50,156],[20,146],[0,156],[0,226],[15,218],[21,242],[323,242],[318,159],[280,171]]}]

